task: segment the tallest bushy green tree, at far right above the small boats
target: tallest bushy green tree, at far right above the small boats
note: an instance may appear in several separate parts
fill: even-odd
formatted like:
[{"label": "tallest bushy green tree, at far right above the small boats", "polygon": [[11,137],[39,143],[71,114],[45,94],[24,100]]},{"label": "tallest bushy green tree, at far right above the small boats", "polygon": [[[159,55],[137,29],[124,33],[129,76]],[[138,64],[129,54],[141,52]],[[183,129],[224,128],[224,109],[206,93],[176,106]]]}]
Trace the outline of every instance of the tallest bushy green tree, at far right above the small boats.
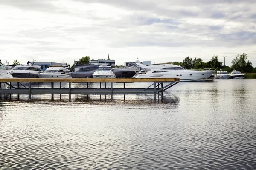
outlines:
[{"label": "tallest bushy green tree, at far right above the small boats", "polygon": [[231,62],[231,68],[237,71],[251,73],[253,71],[253,65],[248,60],[247,54],[237,54],[237,56]]}]

